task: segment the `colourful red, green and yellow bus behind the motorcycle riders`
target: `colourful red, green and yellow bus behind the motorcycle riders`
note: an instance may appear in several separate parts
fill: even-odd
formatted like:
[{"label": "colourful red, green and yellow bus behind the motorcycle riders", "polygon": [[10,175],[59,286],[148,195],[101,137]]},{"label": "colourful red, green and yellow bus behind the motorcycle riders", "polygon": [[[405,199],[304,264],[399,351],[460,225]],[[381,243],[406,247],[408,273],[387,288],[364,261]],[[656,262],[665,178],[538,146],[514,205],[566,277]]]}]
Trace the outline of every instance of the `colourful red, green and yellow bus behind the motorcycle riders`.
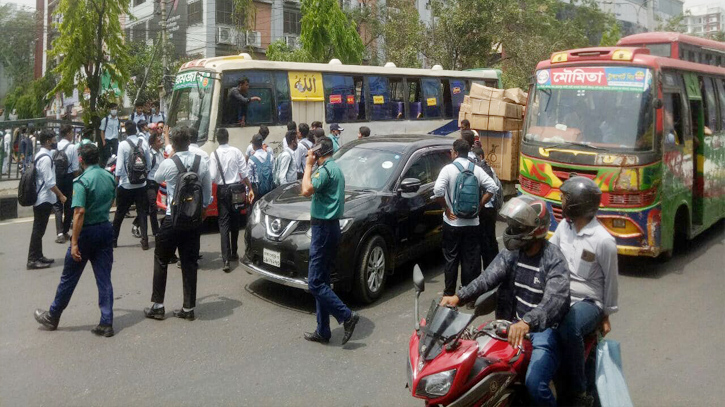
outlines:
[{"label": "colourful red, green and yellow bus behind the motorcycle riders", "polygon": [[538,64],[519,182],[562,221],[560,186],[593,179],[597,218],[622,255],[669,258],[725,214],[725,69],[650,54],[585,48]]}]

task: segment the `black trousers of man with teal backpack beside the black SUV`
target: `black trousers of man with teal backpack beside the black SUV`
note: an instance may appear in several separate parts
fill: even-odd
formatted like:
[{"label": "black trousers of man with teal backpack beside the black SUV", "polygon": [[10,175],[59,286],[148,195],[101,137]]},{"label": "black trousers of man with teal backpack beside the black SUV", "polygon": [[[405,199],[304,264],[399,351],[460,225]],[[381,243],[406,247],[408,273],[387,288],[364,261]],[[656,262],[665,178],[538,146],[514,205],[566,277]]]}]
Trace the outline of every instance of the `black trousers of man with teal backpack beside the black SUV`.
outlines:
[{"label": "black trousers of man with teal backpack beside the black SUV", "polygon": [[443,222],[443,257],[446,259],[443,295],[456,293],[459,264],[464,286],[481,274],[481,239],[478,233],[478,226],[451,226]]}]

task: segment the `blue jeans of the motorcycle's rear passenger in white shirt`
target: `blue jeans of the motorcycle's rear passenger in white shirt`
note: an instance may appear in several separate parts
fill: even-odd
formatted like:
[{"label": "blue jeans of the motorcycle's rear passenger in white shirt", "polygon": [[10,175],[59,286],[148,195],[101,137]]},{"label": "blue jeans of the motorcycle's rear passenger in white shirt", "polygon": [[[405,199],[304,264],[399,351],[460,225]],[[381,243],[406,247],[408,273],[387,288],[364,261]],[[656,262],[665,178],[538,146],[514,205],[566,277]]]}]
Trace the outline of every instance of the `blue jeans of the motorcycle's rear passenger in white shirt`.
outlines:
[{"label": "blue jeans of the motorcycle's rear passenger in white shirt", "polygon": [[562,349],[562,378],[573,395],[584,393],[587,389],[584,337],[597,329],[602,317],[602,310],[596,304],[579,301],[572,305],[557,329]]}]

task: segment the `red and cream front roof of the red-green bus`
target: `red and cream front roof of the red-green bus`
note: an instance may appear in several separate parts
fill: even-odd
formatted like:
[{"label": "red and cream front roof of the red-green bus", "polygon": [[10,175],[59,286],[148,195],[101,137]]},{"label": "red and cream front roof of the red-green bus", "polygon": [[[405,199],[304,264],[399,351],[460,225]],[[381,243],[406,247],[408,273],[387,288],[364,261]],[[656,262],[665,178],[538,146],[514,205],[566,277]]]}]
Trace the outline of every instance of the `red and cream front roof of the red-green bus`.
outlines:
[{"label": "red and cream front roof of the red-green bus", "polygon": [[636,47],[592,47],[555,52],[551,55],[550,59],[539,62],[536,69],[594,64],[640,65],[660,69],[673,68],[713,75],[725,75],[725,68],[679,59],[658,57],[650,55],[647,48]]}]

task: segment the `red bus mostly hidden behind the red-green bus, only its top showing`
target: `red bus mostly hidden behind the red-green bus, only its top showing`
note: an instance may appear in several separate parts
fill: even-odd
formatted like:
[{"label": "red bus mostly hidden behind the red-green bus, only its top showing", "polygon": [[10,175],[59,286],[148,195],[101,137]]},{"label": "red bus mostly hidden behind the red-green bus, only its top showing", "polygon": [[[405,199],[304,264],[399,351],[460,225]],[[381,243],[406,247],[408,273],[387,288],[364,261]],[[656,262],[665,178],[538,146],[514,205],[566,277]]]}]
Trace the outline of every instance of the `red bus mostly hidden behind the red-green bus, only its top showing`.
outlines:
[{"label": "red bus mostly hidden behind the red-green bus, only its top showing", "polygon": [[643,47],[651,55],[681,59],[706,65],[725,65],[725,43],[671,32],[629,35],[617,42],[618,47]]}]

